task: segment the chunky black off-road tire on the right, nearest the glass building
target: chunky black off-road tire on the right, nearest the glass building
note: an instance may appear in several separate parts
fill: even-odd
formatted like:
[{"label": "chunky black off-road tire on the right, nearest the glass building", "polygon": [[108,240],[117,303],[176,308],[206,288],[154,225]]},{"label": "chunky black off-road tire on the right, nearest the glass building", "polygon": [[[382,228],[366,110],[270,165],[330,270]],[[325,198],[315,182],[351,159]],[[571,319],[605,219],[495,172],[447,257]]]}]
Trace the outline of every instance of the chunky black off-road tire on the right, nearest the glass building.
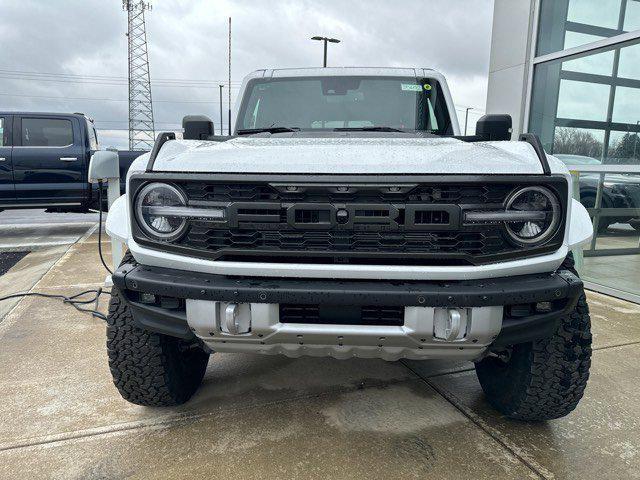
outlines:
[{"label": "chunky black off-road tire on the right, nearest the glass building", "polygon": [[[573,257],[567,257],[562,268],[575,273]],[[499,412],[527,421],[570,413],[582,398],[591,366],[591,320],[584,292],[553,335],[496,353],[507,359],[487,356],[476,363],[476,374]]]}]

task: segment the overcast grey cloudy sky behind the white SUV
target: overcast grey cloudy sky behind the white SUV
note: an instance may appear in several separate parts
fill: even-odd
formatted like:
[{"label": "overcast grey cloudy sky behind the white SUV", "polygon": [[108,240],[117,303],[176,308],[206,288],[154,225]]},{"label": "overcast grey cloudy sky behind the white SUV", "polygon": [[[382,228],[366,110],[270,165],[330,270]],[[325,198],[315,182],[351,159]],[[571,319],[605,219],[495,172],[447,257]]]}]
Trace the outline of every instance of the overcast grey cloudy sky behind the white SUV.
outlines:
[{"label": "overcast grey cloudy sky behind the white SUV", "polygon": [[[456,105],[486,100],[491,0],[151,0],[147,38],[156,130],[186,114],[219,124],[232,17],[232,93],[259,68],[432,67]],[[0,110],[84,112],[102,146],[127,145],[127,28],[121,0],[0,0]],[[226,97],[226,93],[225,93]],[[227,109],[226,100],[222,105]],[[470,127],[471,130],[471,127]]]}]

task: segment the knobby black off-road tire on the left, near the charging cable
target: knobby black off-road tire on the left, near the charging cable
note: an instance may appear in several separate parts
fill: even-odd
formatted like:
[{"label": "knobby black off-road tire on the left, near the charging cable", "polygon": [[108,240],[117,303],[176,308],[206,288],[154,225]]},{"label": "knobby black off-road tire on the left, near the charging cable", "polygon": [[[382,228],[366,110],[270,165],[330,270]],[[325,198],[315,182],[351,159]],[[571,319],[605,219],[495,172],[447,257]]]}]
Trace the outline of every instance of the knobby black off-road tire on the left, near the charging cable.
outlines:
[{"label": "knobby black off-road tire on the left, near the charging cable", "polygon": [[[133,263],[130,254],[122,263]],[[180,405],[202,382],[209,354],[197,344],[143,330],[117,287],[107,319],[107,350],[113,383],[125,400],[149,407]]]}]

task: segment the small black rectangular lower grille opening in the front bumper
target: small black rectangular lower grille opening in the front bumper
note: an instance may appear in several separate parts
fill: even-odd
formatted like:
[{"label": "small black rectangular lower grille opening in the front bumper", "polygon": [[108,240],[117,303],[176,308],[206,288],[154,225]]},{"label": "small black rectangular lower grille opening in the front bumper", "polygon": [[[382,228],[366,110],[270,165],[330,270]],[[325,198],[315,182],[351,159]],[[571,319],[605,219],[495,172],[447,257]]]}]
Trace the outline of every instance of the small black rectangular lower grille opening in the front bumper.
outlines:
[{"label": "small black rectangular lower grille opening in the front bumper", "polygon": [[404,325],[404,307],[280,304],[280,323]]}]

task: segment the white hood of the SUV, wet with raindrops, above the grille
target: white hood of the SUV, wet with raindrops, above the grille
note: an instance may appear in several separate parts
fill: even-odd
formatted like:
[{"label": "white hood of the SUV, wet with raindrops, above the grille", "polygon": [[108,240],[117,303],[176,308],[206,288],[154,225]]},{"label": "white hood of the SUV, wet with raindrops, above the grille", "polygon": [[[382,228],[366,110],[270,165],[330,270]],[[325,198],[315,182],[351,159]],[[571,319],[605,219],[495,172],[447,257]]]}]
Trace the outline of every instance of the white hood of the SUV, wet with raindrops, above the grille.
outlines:
[{"label": "white hood of the SUV, wet with raindrops, above the grille", "polygon": [[154,171],[282,174],[541,174],[526,142],[467,143],[453,138],[238,137],[174,140]]}]

